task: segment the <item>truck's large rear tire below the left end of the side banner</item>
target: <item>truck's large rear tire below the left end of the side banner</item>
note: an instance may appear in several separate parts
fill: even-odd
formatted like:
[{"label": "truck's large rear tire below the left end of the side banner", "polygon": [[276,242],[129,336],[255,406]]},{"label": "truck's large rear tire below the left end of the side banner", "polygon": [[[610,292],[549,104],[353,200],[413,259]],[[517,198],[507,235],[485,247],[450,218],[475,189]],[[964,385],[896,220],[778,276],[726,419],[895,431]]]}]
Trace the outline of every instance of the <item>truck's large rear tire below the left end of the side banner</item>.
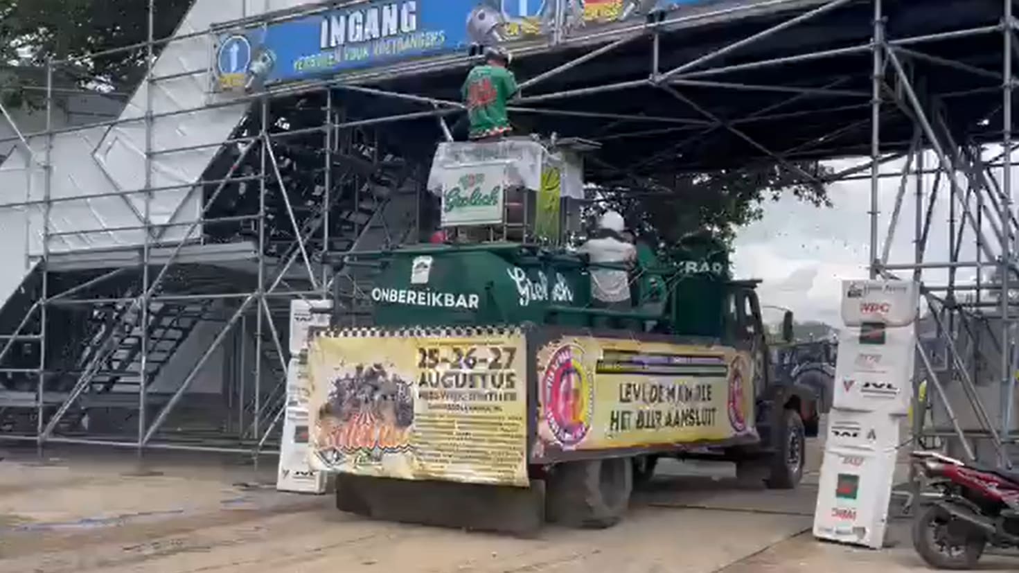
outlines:
[{"label": "truck's large rear tire below the left end of the side banner", "polygon": [[573,527],[611,527],[623,519],[632,491],[630,458],[567,462],[549,476],[546,515]]}]

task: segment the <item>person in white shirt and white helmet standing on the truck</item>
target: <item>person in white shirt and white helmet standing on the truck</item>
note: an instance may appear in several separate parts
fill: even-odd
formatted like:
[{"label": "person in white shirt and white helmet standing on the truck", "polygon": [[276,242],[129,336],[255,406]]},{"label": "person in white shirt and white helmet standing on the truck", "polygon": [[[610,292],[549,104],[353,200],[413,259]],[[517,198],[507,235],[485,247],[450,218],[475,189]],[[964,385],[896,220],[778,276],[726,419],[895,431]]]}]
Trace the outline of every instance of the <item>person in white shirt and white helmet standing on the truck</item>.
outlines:
[{"label": "person in white shirt and white helmet standing on the truck", "polygon": [[[581,245],[579,252],[586,254],[594,264],[614,263],[631,266],[637,258],[637,249],[624,239],[626,224],[623,215],[607,211],[598,221],[598,232]],[[629,274],[623,268],[591,268],[591,298],[595,306],[609,310],[631,309]]]}]

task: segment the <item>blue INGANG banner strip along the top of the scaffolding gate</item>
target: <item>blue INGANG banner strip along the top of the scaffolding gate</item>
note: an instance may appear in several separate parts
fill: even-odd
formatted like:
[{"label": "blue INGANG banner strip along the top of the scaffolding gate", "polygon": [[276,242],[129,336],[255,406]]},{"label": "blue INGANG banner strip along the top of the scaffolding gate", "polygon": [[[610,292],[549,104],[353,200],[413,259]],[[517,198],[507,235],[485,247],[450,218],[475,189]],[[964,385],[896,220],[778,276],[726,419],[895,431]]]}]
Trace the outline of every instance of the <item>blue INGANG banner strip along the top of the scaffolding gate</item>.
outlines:
[{"label": "blue INGANG banner strip along the top of the scaffolding gate", "polygon": [[[562,28],[639,21],[650,10],[714,0],[558,0]],[[557,0],[376,0],[220,38],[221,90],[309,80],[400,61],[466,53],[472,45],[549,38]],[[247,40],[247,43],[245,42]]]}]

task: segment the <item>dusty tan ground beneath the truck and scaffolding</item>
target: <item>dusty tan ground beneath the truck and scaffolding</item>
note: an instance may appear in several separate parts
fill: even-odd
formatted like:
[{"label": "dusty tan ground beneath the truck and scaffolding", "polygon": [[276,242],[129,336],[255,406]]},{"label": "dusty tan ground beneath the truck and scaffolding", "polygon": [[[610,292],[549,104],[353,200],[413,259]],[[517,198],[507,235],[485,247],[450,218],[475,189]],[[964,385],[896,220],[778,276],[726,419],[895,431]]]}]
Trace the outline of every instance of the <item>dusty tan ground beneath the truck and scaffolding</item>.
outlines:
[{"label": "dusty tan ground beneath the truck and scaffolding", "polygon": [[[72,450],[40,464],[33,453],[14,452],[0,462],[0,572],[926,570],[904,520],[894,527],[896,546],[881,552],[813,540],[816,468],[788,492],[741,489],[721,464],[665,466],[619,526],[548,527],[521,539],[341,514],[328,496],[266,485],[275,469],[269,460],[256,471],[210,456],[162,456],[145,474],[127,453]],[[1017,564],[984,562],[1006,571]]]}]

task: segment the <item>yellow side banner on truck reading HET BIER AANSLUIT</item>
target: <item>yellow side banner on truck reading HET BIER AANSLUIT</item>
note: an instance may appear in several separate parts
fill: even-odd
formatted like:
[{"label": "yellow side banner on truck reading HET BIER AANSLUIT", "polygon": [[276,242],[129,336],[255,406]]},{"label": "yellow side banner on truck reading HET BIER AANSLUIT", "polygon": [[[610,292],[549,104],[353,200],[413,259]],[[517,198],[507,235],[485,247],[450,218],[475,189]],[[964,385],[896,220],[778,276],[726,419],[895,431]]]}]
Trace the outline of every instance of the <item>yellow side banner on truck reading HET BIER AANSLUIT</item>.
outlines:
[{"label": "yellow side banner on truck reading HET BIER AANSLUIT", "polygon": [[559,336],[541,345],[536,359],[538,459],[756,435],[748,353]]}]

